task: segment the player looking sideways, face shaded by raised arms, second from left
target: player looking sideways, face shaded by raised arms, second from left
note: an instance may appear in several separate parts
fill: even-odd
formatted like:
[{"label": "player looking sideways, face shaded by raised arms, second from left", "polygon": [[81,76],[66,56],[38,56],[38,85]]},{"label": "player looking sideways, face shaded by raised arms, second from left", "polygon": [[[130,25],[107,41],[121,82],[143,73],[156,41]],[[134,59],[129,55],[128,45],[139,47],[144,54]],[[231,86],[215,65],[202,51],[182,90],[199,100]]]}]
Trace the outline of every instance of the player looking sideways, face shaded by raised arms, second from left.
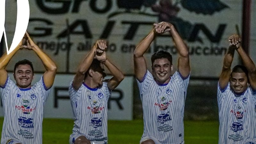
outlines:
[{"label": "player looking sideways, face shaded by raised arms, second from left", "polygon": [[[124,75],[107,59],[106,48],[105,40],[96,42],[69,86],[75,120],[70,144],[108,143],[108,99]],[[112,78],[104,80],[103,65],[113,75]]]}]

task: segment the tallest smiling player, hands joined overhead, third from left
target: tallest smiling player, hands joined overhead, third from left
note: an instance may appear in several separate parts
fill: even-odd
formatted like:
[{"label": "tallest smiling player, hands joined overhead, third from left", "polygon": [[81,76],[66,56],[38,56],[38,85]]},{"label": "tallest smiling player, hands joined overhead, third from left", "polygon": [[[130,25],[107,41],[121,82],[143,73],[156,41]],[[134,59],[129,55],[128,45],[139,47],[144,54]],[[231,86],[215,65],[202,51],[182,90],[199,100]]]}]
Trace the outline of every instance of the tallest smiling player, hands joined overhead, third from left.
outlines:
[{"label": "tallest smiling player, hands joined overhead, third from left", "polygon": [[[190,75],[188,48],[174,26],[154,24],[134,51],[134,70],[143,108],[144,132],[140,144],[183,144],[184,104]],[[172,55],[166,51],[151,56],[152,74],[143,54],[159,34],[169,32],[179,53],[178,70],[172,73]]]}]

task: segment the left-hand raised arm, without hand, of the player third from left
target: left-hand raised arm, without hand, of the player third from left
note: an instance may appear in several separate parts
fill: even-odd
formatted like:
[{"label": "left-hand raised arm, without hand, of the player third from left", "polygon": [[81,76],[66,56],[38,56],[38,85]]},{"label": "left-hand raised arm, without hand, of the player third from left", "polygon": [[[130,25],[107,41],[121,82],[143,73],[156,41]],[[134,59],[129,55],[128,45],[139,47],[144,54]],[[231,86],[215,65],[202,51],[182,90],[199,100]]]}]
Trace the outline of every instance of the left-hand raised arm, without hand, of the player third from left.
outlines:
[{"label": "left-hand raised arm, without hand, of the player third from left", "polygon": [[148,50],[155,36],[156,34],[153,29],[148,34],[148,36],[140,42],[140,44],[136,47],[136,49],[133,52],[134,72],[136,78],[140,81],[143,80],[143,77],[147,72],[147,64],[145,58],[143,57],[143,54]]}]

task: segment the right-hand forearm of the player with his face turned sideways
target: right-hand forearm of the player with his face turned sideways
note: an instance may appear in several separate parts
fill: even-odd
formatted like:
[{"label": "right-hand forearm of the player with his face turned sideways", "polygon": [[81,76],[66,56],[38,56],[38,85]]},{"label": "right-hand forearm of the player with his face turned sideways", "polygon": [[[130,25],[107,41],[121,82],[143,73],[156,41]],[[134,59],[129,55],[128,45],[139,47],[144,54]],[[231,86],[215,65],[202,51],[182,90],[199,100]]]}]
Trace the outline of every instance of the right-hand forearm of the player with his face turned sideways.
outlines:
[{"label": "right-hand forearm of the player with his face turned sideways", "polygon": [[110,73],[117,79],[118,82],[121,82],[124,79],[124,74],[108,59],[104,62],[104,65],[108,68]]}]

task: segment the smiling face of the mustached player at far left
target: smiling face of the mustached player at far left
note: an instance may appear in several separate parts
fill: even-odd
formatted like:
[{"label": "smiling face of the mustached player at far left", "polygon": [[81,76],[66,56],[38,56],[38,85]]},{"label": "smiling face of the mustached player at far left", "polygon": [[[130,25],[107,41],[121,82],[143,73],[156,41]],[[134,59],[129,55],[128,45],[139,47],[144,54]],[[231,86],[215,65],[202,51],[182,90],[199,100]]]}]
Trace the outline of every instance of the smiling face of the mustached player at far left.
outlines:
[{"label": "smiling face of the mustached player at far left", "polygon": [[34,74],[32,68],[28,64],[19,65],[15,70],[15,74],[13,75],[19,88],[31,87]]}]

